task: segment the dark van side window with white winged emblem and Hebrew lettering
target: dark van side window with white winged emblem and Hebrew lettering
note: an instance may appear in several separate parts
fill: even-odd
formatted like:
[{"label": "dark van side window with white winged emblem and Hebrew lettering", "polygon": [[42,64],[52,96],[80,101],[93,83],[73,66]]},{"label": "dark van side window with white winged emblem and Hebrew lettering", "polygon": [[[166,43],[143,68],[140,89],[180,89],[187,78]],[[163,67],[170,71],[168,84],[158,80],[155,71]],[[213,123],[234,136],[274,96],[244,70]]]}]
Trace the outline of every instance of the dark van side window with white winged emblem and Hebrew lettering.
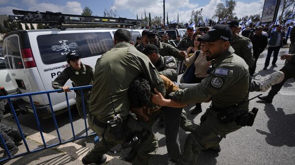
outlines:
[{"label": "dark van side window with white winged emblem and Hebrew lettering", "polygon": [[113,47],[110,32],[39,35],[37,43],[44,64],[66,61],[69,51],[78,50],[82,58],[101,55]]}]

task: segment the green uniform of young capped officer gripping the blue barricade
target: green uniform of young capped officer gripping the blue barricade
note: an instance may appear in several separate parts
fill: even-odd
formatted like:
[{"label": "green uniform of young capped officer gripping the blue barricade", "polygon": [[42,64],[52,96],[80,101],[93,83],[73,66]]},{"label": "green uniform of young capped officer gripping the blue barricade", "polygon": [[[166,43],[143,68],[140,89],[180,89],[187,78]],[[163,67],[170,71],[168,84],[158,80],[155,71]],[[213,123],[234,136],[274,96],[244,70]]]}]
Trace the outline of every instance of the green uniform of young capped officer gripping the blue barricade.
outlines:
[{"label": "green uniform of young capped officer gripping the blue barricade", "polygon": [[[80,71],[75,71],[73,67],[69,66],[65,68],[54,81],[52,81],[52,88],[56,90],[62,89],[62,87],[64,86],[64,84],[67,82],[68,79],[74,82],[75,87],[91,85],[93,80],[93,72],[94,71],[90,66],[84,65],[82,63],[81,63]],[[90,89],[83,90],[86,115],[88,114],[89,91]],[[76,106],[78,109],[79,116],[81,118],[84,118],[80,90],[77,90],[76,92]]]}]

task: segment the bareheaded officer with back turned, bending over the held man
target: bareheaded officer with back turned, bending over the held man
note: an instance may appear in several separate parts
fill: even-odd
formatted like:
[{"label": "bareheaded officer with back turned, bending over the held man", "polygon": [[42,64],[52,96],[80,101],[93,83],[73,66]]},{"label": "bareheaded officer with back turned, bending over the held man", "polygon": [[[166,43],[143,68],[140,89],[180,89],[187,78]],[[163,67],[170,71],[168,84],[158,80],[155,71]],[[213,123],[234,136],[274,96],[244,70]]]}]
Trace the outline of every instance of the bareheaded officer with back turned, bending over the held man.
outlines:
[{"label": "bareheaded officer with back turned, bending over the held man", "polygon": [[[88,123],[102,140],[82,159],[84,165],[102,164],[106,161],[106,152],[117,144],[130,141],[127,137],[138,132],[144,140],[133,146],[137,151],[134,165],[148,165],[157,150],[158,142],[153,132],[129,115],[128,89],[139,75],[147,79],[150,86],[158,89],[163,95],[165,86],[156,68],[145,54],[132,45],[131,39],[128,30],[118,29],[114,34],[114,47],[96,62]],[[107,124],[111,121],[120,124],[116,124],[114,128]]]}]

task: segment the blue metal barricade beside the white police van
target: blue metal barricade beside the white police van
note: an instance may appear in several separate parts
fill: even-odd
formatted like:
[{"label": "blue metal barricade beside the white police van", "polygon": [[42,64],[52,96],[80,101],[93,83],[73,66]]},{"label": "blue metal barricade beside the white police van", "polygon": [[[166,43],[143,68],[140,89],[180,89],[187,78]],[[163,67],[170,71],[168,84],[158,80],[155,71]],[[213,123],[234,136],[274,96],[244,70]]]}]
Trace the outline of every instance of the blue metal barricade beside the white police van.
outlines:
[{"label": "blue metal barricade beside the white police van", "polygon": [[[59,134],[59,126],[57,124],[57,120],[56,120],[56,117],[55,117],[55,113],[54,113],[54,110],[53,110],[53,107],[52,107],[52,102],[51,102],[51,98],[50,98],[50,94],[51,93],[59,93],[59,92],[63,92],[61,89],[60,90],[52,90],[52,91],[43,91],[43,92],[34,92],[34,93],[28,93],[28,94],[15,94],[15,95],[6,95],[6,96],[0,96],[0,100],[1,99],[7,99],[8,101],[8,104],[10,106],[10,109],[11,109],[11,113],[15,119],[15,122],[17,124],[17,127],[18,127],[18,130],[23,138],[23,141],[24,141],[24,144],[26,146],[26,149],[27,149],[27,152],[25,153],[21,153],[21,154],[17,154],[17,155],[14,155],[14,156],[11,156],[8,148],[7,148],[7,145],[5,143],[5,141],[3,140],[3,137],[1,136],[0,134],[0,142],[2,143],[2,145],[4,146],[4,150],[5,152],[7,153],[8,157],[6,158],[1,158],[0,159],[0,163],[2,161],[6,161],[8,159],[14,159],[14,158],[17,158],[17,157],[21,157],[21,156],[24,156],[24,155],[28,155],[30,153],[34,153],[34,152],[37,152],[37,151],[41,151],[43,149],[46,149],[46,148],[51,148],[51,147],[55,147],[55,146],[58,146],[60,144],[64,144],[64,143],[67,143],[67,142],[71,142],[71,141],[76,141],[76,140],[80,140],[80,139],[83,139],[83,138],[87,138],[89,136],[92,136],[92,135],[95,135],[95,133],[91,133],[89,134],[88,133],[88,129],[87,129],[87,122],[86,122],[86,113],[85,113],[85,103],[84,103],[84,92],[83,92],[83,89],[89,89],[89,88],[92,88],[92,85],[88,85],[88,86],[82,86],[82,87],[74,87],[74,88],[70,88],[70,90],[80,90],[81,92],[81,97],[82,97],[82,107],[83,107],[83,113],[84,113],[84,123],[85,123],[85,130],[86,130],[86,136],[80,136],[80,137],[76,137],[75,136],[75,132],[74,132],[74,125],[73,125],[73,119],[72,119],[72,114],[71,114],[71,111],[70,111],[70,105],[69,105],[69,100],[68,100],[68,95],[67,93],[65,93],[65,98],[66,98],[66,103],[67,103],[67,109],[68,109],[68,113],[69,113],[69,118],[70,118],[70,122],[71,122],[71,128],[72,128],[72,133],[73,133],[73,138],[70,139],[70,140],[66,140],[66,141],[62,141],[61,138],[60,138],[60,134]],[[50,109],[51,109],[51,114],[52,114],[52,118],[53,118],[53,121],[54,121],[54,124],[55,124],[55,127],[56,127],[56,130],[57,130],[57,135],[58,135],[58,138],[59,138],[59,142],[58,143],[55,143],[55,144],[51,144],[51,145],[47,145],[46,144],[46,141],[44,139],[44,136],[43,136],[43,133],[42,133],[42,128],[41,128],[41,125],[40,125],[40,122],[39,122],[39,118],[37,116],[37,112],[36,112],[36,109],[35,109],[35,106],[33,104],[33,99],[32,99],[32,95],[38,95],[38,94],[47,94],[47,97],[48,97],[48,102],[49,102],[49,106],[50,106]],[[17,118],[17,115],[15,113],[15,110],[14,110],[14,107],[12,105],[12,102],[11,102],[11,98],[15,98],[15,97],[24,97],[24,96],[29,96],[29,101],[31,103],[31,106],[32,106],[32,109],[33,109],[33,114],[34,114],[34,117],[35,117],[35,120],[36,120],[36,123],[37,123],[37,127],[39,129],[39,132],[40,132],[40,136],[42,138],[42,141],[43,141],[43,146],[42,147],[39,147],[39,148],[36,148],[34,150],[29,150],[29,146],[28,146],[28,143],[25,139],[25,136],[24,136],[24,133],[22,131],[22,128],[20,126],[20,123],[19,123],[19,120]]]}]

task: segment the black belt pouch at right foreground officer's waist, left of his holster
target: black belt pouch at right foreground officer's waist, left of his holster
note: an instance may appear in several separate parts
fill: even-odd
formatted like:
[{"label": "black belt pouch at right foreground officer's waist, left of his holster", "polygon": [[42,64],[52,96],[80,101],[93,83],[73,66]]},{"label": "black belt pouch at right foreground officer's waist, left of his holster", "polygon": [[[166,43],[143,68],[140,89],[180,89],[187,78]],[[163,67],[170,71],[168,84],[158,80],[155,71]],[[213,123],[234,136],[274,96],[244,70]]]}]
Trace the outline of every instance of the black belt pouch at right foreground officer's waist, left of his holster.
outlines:
[{"label": "black belt pouch at right foreground officer's waist, left of his holster", "polygon": [[221,110],[217,114],[217,119],[220,123],[226,124],[235,121],[236,117],[242,115],[242,111],[237,106],[231,106],[228,109]]}]

